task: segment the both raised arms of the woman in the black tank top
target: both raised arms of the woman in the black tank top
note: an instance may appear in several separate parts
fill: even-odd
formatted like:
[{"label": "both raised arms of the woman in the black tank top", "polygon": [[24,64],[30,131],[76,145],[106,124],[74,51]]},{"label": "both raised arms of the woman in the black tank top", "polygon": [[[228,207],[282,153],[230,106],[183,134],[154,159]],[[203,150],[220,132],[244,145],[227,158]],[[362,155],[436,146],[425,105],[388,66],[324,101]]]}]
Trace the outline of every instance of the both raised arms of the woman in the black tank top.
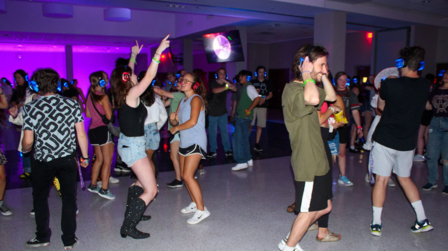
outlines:
[{"label": "both raised arms of the woman in the black tank top", "polygon": [[[136,101],[140,97],[140,95],[146,90],[146,88],[148,88],[148,86],[151,84],[152,79],[154,79],[157,73],[157,68],[159,67],[160,56],[162,55],[162,52],[165,51],[165,49],[170,46],[170,41],[168,40],[169,36],[170,34],[166,35],[166,37],[163,38],[162,42],[160,42],[160,45],[154,54],[153,60],[151,61],[148,69],[146,70],[145,76],[140,80],[140,82],[138,82],[132,88],[130,88],[126,96],[127,99]],[[139,47],[137,52],[135,48],[138,48],[138,43],[136,43],[136,45],[132,47],[132,52],[134,54],[138,54],[141,50],[141,47],[142,46]],[[128,64],[128,66],[131,67],[132,71],[134,70],[134,64],[135,64],[135,59],[132,60],[132,56],[135,56],[134,54],[131,54],[131,59],[129,60]]]}]

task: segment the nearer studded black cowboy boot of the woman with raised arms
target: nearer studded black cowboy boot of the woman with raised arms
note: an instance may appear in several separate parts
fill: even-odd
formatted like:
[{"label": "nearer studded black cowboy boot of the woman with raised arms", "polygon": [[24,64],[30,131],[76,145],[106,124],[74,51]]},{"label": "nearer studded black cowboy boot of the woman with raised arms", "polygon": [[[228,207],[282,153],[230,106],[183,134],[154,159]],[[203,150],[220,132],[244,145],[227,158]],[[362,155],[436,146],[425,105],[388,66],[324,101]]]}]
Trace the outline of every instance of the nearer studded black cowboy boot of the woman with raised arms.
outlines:
[{"label": "nearer studded black cowboy boot of the woman with raised arms", "polygon": [[149,233],[143,233],[135,228],[140,222],[141,216],[143,215],[145,209],[145,201],[141,198],[135,198],[131,200],[130,204],[126,205],[123,225],[121,225],[120,229],[121,237],[126,238],[129,236],[134,239],[144,239],[150,236]]}]

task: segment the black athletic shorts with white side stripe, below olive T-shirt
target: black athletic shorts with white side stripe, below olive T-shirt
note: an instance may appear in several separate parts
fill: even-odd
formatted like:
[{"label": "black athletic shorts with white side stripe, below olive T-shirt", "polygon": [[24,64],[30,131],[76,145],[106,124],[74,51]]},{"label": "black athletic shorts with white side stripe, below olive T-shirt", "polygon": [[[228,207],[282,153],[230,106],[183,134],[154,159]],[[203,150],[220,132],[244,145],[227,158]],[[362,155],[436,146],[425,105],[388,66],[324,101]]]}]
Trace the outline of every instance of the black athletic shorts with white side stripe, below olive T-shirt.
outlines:
[{"label": "black athletic shorts with white side stripe, below olive T-shirt", "polygon": [[332,172],[315,176],[314,182],[296,181],[296,212],[316,212],[328,207],[332,194]]}]

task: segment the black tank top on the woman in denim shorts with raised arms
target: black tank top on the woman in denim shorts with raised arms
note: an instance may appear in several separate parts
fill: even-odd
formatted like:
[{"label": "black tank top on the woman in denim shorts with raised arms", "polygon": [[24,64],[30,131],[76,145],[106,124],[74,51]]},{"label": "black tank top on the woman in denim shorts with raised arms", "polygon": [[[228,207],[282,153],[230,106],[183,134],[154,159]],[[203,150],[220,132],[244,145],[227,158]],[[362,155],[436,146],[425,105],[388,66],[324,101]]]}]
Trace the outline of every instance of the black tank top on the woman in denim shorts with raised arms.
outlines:
[{"label": "black tank top on the woman in denim shorts with raised arms", "polygon": [[144,124],[147,114],[148,112],[141,102],[136,108],[130,107],[124,103],[124,105],[117,110],[121,133],[127,137],[144,136]]}]

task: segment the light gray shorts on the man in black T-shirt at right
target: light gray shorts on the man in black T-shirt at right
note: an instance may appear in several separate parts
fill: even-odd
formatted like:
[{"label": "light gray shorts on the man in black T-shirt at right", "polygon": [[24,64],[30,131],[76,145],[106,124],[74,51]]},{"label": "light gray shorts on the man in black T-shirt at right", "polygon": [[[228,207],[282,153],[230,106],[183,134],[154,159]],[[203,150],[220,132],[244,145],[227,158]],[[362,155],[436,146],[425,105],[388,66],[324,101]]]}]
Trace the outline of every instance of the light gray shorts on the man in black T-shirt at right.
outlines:
[{"label": "light gray shorts on the man in black T-shirt at right", "polygon": [[414,150],[398,151],[373,142],[373,173],[389,177],[394,172],[399,177],[410,177]]}]

